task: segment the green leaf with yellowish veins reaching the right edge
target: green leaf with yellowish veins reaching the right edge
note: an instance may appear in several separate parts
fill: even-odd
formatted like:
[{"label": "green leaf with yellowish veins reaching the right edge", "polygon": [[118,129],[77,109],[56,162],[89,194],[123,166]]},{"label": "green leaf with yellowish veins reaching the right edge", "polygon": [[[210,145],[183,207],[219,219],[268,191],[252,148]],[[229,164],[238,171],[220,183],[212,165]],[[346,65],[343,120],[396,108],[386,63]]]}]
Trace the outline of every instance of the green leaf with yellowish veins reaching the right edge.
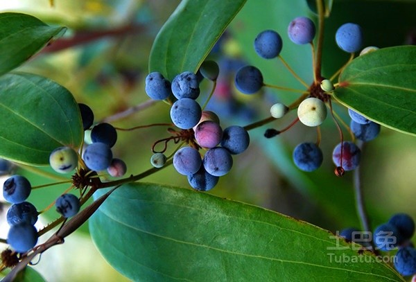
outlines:
[{"label": "green leaf with yellowish veins reaching the right edge", "polygon": [[416,135],[416,46],[379,49],[353,60],[335,98],[372,121]]}]

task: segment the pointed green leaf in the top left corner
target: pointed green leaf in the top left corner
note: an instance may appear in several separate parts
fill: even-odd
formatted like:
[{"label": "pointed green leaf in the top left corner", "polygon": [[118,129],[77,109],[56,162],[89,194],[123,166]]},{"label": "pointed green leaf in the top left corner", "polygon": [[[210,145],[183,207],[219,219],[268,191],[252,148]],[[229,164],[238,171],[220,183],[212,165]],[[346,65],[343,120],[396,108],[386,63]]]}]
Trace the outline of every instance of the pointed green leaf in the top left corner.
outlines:
[{"label": "pointed green leaf in the top left corner", "polygon": [[31,58],[64,30],[62,26],[48,26],[30,15],[0,13],[0,75]]}]

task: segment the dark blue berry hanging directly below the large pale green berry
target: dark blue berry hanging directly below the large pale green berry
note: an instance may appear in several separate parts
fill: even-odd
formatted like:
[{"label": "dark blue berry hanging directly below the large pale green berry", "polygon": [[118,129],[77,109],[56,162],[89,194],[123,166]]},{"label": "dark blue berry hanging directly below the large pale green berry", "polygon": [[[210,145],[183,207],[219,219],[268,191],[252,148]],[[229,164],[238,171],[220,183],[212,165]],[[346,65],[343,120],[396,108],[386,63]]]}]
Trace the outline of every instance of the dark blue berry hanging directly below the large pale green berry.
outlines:
[{"label": "dark blue berry hanging directly below the large pale green berry", "polygon": [[322,150],[315,143],[300,143],[293,150],[293,161],[300,170],[316,170],[321,166],[323,159]]}]

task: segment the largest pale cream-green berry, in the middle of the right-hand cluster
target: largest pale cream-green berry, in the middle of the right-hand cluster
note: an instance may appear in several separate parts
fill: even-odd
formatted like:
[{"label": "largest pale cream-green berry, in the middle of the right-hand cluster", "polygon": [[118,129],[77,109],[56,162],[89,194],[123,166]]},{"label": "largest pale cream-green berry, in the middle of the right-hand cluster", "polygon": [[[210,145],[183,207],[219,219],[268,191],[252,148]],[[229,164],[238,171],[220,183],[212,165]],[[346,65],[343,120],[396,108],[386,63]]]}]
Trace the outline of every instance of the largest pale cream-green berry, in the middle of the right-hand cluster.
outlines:
[{"label": "largest pale cream-green berry, in the middle of the right-hand cluster", "polygon": [[318,98],[306,98],[297,107],[297,117],[306,126],[318,126],[327,117],[327,107]]}]

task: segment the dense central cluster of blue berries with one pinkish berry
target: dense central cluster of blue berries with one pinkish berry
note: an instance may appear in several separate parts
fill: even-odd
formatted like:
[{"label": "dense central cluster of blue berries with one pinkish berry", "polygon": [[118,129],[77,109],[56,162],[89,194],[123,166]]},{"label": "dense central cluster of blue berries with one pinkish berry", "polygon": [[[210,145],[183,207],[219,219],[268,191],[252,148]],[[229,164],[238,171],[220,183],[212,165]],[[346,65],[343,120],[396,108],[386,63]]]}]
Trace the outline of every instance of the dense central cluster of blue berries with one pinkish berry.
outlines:
[{"label": "dense central cluster of blue berries with one pinkish berry", "polygon": [[[192,188],[199,191],[214,188],[219,177],[231,170],[232,155],[245,151],[250,143],[245,128],[232,125],[223,130],[218,115],[204,110],[196,100],[200,96],[202,78],[215,82],[218,73],[218,64],[207,60],[198,74],[184,71],[172,82],[159,72],[149,73],[146,77],[146,93],[150,98],[175,98],[170,110],[171,121],[180,129],[180,132],[175,131],[177,142],[182,141],[184,146],[174,152],[173,166],[178,173],[188,177]],[[150,162],[160,168],[167,159],[163,152],[155,152]]]}]

